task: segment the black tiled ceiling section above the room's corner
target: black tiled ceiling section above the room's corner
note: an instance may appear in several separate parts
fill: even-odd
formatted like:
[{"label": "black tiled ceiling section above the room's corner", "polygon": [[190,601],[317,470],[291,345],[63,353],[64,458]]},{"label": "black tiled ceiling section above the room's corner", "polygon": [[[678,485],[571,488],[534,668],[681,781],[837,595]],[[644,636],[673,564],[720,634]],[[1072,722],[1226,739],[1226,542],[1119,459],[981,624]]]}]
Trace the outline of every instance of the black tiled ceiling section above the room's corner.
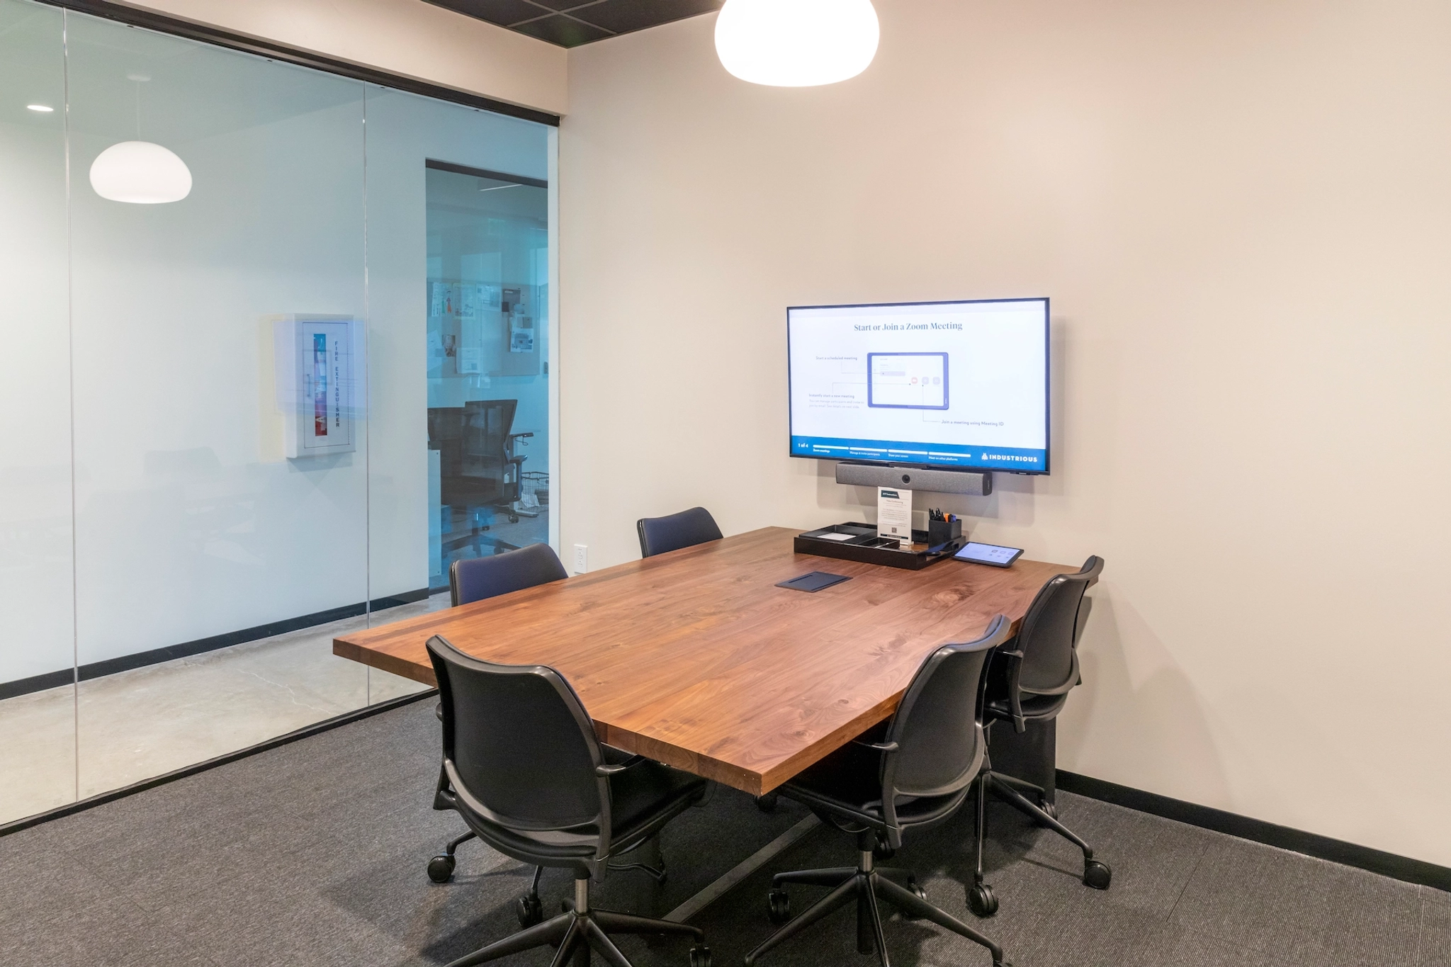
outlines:
[{"label": "black tiled ceiling section above the room's corner", "polygon": [[425,0],[560,46],[720,10],[726,0]]}]

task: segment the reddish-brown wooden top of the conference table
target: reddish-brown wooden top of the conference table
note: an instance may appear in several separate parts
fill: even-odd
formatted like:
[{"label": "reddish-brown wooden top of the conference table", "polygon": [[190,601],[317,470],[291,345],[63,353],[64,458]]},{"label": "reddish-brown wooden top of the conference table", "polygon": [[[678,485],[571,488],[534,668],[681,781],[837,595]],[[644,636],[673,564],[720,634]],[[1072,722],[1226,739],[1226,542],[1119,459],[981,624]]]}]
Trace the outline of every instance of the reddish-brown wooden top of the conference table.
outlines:
[{"label": "reddish-brown wooden top of the conference table", "polygon": [[[795,554],[763,528],[643,561],[358,631],[344,658],[435,684],[443,635],[501,664],[546,664],[579,693],[601,741],[752,794],[888,718],[923,658],[1017,631],[1033,596],[1077,567],[942,561],[920,571]],[[814,594],[775,587],[850,576]]]}]

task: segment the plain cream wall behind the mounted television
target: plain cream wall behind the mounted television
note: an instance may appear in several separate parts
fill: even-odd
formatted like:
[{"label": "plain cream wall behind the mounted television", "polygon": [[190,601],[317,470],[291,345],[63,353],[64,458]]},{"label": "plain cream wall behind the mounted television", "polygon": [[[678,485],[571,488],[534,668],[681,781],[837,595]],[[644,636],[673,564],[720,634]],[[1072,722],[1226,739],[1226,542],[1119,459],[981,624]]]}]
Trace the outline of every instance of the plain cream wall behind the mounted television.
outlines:
[{"label": "plain cream wall behind the mounted television", "polygon": [[1451,864],[1451,7],[876,7],[826,88],[711,16],[570,52],[566,557],[863,513],[786,457],[785,306],[1051,296],[1053,476],[940,503],[1107,560],[1059,764]]}]

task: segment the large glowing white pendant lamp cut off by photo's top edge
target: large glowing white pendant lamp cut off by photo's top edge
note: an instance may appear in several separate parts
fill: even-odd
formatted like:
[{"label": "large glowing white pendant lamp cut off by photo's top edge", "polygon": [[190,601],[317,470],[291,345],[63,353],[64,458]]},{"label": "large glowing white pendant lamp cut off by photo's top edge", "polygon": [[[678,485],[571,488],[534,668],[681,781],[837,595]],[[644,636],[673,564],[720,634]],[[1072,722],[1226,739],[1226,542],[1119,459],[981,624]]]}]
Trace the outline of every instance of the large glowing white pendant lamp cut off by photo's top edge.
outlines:
[{"label": "large glowing white pendant lamp cut off by photo's top edge", "polygon": [[856,77],[876,55],[879,38],[872,0],[726,0],[715,20],[721,65],[772,87]]}]

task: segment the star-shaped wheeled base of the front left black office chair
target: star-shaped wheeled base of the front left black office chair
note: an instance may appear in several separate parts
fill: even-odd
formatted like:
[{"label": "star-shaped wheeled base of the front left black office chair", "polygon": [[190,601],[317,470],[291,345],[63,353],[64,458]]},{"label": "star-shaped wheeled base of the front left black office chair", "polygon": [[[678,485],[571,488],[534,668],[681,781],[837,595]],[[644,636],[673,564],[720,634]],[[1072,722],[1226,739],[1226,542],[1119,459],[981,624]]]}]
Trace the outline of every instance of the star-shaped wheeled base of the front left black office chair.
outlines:
[{"label": "star-shaped wheeled base of the front left black office chair", "polygon": [[705,932],[689,924],[675,924],[672,921],[657,921],[633,913],[617,913],[614,910],[595,910],[589,906],[589,880],[575,880],[575,902],[567,905],[559,916],[535,924],[518,934],[495,941],[482,950],[460,957],[448,967],[473,967],[486,964],[501,957],[518,954],[535,947],[554,947],[554,958],[550,967],[589,967],[591,954],[599,957],[611,967],[631,967],[630,960],[620,953],[611,934],[675,934],[695,939],[691,950],[691,967],[711,967],[710,948],[702,944]]}]

